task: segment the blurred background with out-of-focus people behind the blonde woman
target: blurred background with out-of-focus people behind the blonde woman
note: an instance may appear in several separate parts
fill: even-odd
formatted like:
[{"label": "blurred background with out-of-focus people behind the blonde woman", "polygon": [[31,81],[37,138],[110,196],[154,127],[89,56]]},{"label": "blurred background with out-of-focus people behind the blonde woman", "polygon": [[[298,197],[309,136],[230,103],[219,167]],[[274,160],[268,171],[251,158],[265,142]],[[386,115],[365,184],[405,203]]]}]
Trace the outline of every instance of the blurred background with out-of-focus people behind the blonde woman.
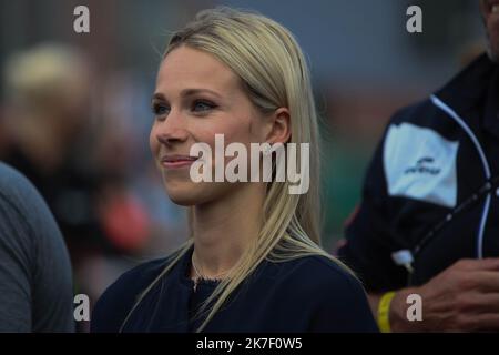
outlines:
[{"label": "blurred background with out-of-focus people behind the blonde woman", "polygon": [[[90,9],[90,33],[73,10]],[[149,151],[150,98],[171,31],[203,8],[257,10],[306,52],[324,132],[324,246],[355,210],[390,115],[483,50],[478,0],[0,0],[0,160],[40,190],[65,237],[75,293],[186,237]],[[406,10],[422,9],[422,33]],[[80,324],[86,331],[88,324]]]}]

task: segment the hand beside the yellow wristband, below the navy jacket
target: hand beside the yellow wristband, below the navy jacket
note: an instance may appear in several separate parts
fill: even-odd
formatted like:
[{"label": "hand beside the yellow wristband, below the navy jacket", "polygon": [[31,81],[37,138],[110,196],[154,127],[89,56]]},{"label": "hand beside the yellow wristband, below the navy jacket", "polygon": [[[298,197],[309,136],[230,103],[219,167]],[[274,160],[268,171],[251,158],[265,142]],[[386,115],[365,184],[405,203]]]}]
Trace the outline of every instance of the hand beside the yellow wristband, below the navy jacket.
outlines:
[{"label": "hand beside the yellow wristband, below the navy jacket", "polygon": [[[419,294],[422,321],[407,320],[407,296]],[[499,331],[499,258],[461,260],[419,287],[397,292],[390,305],[394,332]]]}]

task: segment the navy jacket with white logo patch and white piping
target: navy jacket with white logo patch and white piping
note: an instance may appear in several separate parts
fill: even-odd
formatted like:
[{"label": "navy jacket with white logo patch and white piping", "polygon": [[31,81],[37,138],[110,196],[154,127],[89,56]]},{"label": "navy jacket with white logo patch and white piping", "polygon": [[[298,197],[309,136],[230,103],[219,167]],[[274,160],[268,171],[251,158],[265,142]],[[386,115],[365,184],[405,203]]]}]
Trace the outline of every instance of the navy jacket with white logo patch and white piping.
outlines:
[{"label": "navy jacket with white logo patch and white piping", "polygon": [[499,256],[498,68],[483,54],[390,120],[338,252],[368,291]]}]

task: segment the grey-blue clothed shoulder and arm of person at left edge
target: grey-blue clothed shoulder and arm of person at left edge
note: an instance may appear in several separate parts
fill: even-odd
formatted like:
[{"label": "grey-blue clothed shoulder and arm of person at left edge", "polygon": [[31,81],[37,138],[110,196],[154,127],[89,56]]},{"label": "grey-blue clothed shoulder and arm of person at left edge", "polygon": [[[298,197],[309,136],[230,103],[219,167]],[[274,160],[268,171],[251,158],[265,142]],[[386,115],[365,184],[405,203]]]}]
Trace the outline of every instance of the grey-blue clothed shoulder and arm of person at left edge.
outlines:
[{"label": "grey-blue clothed shoulder and arm of person at left edge", "polygon": [[0,163],[0,332],[73,332],[71,263],[45,202]]}]

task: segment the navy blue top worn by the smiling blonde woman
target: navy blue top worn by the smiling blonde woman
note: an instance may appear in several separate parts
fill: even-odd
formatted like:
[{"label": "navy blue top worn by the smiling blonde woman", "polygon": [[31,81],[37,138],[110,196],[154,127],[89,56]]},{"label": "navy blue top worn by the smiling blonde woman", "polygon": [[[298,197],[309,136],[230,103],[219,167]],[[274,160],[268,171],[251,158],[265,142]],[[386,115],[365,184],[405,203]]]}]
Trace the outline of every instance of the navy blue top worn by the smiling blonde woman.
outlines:
[{"label": "navy blue top worn by the smiling blonde woman", "polygon": [[[193,317],[216,287],[189,277],[193,248],[147,293],[123,332],[193,332]],[[96,303],[91,332],[119,332],[124,318],[165,267],[169,257],[123,274]],[[360,283],[324,256],[262,262],[240,285],[204,332],[377,332]]]}]

